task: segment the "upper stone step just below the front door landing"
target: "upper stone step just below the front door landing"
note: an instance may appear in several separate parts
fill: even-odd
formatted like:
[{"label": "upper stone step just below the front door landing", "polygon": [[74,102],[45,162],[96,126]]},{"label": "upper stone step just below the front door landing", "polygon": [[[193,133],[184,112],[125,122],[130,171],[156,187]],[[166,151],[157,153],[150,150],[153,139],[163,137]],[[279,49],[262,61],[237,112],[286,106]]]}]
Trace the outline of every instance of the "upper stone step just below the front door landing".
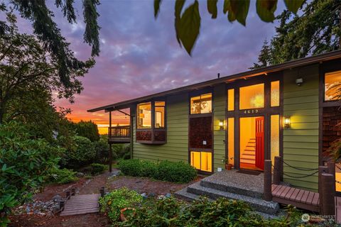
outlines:
[{"label": "upper stone step just below the front door landing", "polygon": [[200,186],[207,187],[210,189],[216,189],[222,192],[230,192],[233,194],[240,194],[243,196],[254,197],[257,199],[263,199],[263,192],[260,191],[261,189],[254,189],[251,187],[241,187],[239,185],[234,184],[224,184],[222,182],[214,182],[212,180],[205,180],[202,179],[200,181]]}]

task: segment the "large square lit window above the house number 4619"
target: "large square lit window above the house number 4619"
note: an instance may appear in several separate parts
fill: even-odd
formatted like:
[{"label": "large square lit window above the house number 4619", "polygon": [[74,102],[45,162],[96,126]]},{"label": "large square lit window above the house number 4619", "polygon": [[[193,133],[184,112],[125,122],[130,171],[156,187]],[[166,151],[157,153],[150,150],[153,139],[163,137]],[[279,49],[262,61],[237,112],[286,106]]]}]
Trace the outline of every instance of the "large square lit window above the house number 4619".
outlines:
[{"label": "large square lit window above the house number 4619", "polygon": [[239,88],[239,109],[264,108],[264,84]]}]

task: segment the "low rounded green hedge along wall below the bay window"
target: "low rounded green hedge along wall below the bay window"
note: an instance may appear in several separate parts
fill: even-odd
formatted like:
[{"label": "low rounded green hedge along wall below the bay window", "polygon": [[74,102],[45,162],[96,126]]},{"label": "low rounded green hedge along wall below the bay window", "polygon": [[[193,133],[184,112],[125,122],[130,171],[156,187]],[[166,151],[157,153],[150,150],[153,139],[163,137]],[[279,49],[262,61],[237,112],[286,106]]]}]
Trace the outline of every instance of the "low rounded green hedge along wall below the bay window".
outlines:
[{"label": "low rounded green hedge along wall below the bay window", "polygon": [[121,160],[119,169],[124,175],[152,177],[168,182],[188,183],[197,177],[197,170],[185,162],[168,160],[152,162],[147,160]]}]

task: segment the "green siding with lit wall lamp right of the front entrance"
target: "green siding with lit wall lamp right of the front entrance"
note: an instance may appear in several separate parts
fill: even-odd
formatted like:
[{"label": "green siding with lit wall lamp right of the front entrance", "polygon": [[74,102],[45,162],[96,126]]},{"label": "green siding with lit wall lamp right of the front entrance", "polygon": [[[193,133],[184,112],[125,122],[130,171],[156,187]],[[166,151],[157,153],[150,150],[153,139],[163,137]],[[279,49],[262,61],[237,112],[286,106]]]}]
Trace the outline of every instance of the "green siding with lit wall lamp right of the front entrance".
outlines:
[{"label": "green siding with lit wall lamp right of the front entrance", "polygon": [[[298,86],[296,78],[303,78]],[[291,118],[291,127],[283,130],[283,160],[294,167],[318,168],[318,94],[319,67],[285,70],[283,72],[283,116]],[[318,190],[318,174],[301,177],[314,171],[302,171],[283,166],[283,180],[295,187]]]}]

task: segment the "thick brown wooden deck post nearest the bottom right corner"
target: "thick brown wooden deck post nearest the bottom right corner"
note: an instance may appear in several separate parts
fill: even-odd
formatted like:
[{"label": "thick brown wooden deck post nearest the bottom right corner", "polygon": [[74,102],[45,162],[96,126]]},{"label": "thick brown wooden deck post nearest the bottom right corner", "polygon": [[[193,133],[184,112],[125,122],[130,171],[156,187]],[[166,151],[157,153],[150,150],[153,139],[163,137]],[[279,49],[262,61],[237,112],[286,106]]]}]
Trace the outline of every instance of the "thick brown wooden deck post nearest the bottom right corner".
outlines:
[{"label": "thick brown wooden deck post nearest the bottom right corner", "polygon": [[334,182],[333,175],[322,174],[323,215],[335,215],[335,189],[332,187]]}]

